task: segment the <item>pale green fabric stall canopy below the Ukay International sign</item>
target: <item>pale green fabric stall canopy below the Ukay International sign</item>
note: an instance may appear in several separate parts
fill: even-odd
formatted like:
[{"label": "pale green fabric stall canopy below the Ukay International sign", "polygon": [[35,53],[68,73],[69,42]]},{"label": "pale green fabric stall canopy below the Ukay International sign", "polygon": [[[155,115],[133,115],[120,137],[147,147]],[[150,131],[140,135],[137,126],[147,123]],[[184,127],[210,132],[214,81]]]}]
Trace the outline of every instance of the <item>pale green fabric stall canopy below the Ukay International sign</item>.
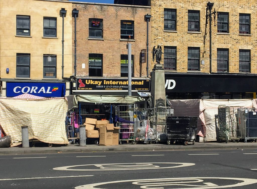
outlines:
[{"label": "pale green fabric stall canopy below the Ukay International sign", "polygon": [[67,96],[69,107],[71,110],[78,107],[79,102],[100,102],[100,103],[122,103],[135,104],[144,101],[144,98],[137,96],[113,96],[113,95],[69,95]]}]

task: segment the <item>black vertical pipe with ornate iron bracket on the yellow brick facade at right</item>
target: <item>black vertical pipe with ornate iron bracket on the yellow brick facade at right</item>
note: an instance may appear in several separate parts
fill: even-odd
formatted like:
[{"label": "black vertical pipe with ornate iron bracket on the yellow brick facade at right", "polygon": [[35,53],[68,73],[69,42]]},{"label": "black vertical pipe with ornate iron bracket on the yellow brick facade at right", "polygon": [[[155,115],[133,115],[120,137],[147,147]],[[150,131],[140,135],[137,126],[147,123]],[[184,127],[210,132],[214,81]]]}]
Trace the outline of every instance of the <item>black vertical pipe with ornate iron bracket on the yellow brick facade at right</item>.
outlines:
[{"label": "black vertical pipe with ornate iron bracket on the yellow brick facade at right", "polygon": [[208,19],[209,19],[209,26],[210,26],[210,74],[212,73],[212,16],[214,18],[214,26],[216,26],[215,24],[215,19],[216,19],[216,14],[217,12],[214,11],[212,12],[212,7],[213,7],[214,3],[207,3],[207,7],[206,7],[206,25],[208,24]]}]

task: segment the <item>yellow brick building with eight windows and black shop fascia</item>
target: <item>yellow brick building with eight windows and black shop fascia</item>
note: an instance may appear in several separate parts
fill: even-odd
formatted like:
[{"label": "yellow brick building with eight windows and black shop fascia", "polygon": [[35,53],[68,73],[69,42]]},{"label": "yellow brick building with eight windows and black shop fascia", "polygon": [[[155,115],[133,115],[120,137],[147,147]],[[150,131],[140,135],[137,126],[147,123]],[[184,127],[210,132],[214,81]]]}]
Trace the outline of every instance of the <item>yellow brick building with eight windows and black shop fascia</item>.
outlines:
[{"label": "yellow brick building with eight windows and black shop fascia", "polygon": [[256,97],[255,1],[213,2],[210,69],[208,1],[151,1],[151,49],[162,46],[171,99]]}]

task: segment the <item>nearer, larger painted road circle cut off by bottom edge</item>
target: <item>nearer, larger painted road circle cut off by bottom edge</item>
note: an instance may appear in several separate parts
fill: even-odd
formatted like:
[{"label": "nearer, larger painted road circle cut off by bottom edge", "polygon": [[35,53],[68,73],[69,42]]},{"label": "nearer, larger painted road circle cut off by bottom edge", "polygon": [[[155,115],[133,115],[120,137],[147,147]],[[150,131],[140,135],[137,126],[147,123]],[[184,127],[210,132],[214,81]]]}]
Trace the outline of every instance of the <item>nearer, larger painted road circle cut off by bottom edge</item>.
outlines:
[{"label": "nearer, larger painted road circle cut off by bottom edge", "polygon": [[186,177],[102,182],[77,186],[75,189],[113,189],[121,188],[122,185],[131,189],[207,189],[238,187],[255,183],[257,179],[250,178]]}]

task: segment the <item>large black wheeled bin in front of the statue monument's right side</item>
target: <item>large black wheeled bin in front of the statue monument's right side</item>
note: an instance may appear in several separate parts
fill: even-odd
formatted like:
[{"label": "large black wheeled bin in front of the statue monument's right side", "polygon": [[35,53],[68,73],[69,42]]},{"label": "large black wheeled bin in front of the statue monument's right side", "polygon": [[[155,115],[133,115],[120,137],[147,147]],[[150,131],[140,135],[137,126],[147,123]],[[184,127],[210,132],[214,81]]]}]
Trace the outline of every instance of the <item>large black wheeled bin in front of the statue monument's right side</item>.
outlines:
[{"label": "large black wheeled bin in front of the statue monument's right side", "polygon": [[167,144],[175,142],[183,142],[187,145],[188,142],[195,144],[197,132],[198,117],[171,117],[168,116],[167,124]]}]

